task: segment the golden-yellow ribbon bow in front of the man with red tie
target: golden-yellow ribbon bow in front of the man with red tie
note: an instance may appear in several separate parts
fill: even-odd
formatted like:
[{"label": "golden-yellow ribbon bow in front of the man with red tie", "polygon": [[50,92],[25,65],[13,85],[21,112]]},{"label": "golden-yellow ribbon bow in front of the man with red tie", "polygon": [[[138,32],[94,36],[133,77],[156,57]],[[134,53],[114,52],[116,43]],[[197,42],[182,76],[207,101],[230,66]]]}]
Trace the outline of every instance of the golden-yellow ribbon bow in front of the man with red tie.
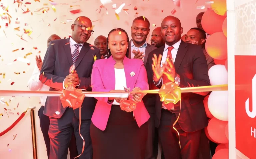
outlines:
[{"label": "golden-yellow ribbon bow in front of the man with red tie", "polygon": [[159,90],[160,100],[164,104],[174,103],[176,104],[181,99],[181,90],[178,84],[174,82],[168,82],[162,85]]}]

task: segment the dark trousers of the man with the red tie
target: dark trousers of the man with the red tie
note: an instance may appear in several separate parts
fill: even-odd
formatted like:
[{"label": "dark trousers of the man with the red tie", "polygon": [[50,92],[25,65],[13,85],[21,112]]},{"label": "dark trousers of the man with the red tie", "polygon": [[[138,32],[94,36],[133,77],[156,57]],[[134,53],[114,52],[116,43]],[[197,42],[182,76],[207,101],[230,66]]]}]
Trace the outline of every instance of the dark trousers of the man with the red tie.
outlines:
[{"label": "dark trousers of the man with the red tie", "polygon": [[[201,134],[204,130],[195,132],[185,132],[181,129],[178,123],[175,128],[180,134],[180,144],[177,132],[173,129],[173,123],[176,120],[176,115],[168,110],[162,109],[161,121],[158,128],[159,140],[162,146],[165,159],[199,159],[200,151],[202,151],[200,144],[202,144]],[[209,144],[206,140],[204,145]],[[205,146],[207,147],[207,146]],[[209,146],[206,148],[209,152]],[[210,157],[210,156],[209,156]],[[205,158],[205,159],[208,159]]]}]

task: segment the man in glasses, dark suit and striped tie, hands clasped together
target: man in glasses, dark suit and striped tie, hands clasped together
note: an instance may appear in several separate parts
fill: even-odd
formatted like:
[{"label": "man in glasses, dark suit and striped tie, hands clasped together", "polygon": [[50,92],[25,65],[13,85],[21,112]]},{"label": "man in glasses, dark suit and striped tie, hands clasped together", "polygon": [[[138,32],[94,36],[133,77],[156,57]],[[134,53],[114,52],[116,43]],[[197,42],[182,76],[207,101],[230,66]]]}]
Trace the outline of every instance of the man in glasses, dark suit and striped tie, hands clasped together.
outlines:
[{"label": "man in glasses, dark suit and striped tie, hands clasped together", "polygon": [[[94,58],[100,59],[100,51],[90,47],[86,41],[93,33],[92,22],[87,17],[78,17],[71,25],[72,35],[68,39],[52,41],[46,51],[40,80],[50,86],[50,90],[62,90],[68,84],[75,84],[78,89],[91,90],[91,71]],[[75,72],[69,73],[74,65]],[[90,123],[95,108],[95,99],[85,97],[81,107],[81,126],[79,125],[79,109],[63,107],[60,97],[47,97],[44,114],[50,117],[50,159],[67,158],[68,145],[72,132],[76,138],[79,158],[92,159]],[[79,128],[80,127],[80,128]]]}]

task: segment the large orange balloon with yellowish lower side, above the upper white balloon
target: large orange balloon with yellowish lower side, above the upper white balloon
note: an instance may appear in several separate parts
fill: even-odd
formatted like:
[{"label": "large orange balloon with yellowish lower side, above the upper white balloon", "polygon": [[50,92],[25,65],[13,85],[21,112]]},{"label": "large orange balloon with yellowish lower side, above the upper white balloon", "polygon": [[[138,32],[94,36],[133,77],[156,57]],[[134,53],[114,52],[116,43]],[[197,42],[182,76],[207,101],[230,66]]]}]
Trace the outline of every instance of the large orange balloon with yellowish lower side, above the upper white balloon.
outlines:
[{"label": "large orange balloon with yellowish lower side, above the upper white balloon", "polygon": [[205,43],[205,50],[213,59],[227,59],[227,38],[224,36],[223,32],[217,32],[209,36]]}]

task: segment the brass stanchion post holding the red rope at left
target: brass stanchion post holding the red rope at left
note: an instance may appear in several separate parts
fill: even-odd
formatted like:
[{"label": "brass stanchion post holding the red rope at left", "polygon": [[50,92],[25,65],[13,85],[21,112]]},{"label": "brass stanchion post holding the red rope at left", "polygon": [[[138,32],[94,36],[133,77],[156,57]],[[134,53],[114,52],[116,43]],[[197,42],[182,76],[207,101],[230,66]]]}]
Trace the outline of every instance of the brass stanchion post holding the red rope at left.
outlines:
[{"label": "brass stanchion post holding the red rope at left", "polygon": [[30,109],[30,120],[31,120],[31,132],[32,132],[32,146],[33,146],[33,159],[37,159],[37,148],[36,148],[36,126],[35,126],[35,109],[36,107],[29,107]]}]

